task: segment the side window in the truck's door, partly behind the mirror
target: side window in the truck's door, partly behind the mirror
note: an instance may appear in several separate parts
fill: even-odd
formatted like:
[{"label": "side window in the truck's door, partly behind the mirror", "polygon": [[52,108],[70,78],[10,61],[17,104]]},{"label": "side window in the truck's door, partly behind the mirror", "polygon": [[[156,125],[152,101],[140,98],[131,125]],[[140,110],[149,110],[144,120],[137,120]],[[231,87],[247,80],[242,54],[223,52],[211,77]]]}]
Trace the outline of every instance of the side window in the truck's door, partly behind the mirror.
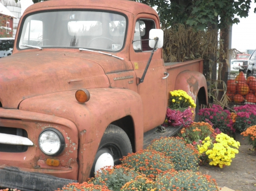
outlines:
[{"label": "side window in the truck's door, partly behind the mirror", "polygon": [[139,19],[135,24],[133,48],[135,52],[150,51],[148,45],[149,32],[155,28],[155,22],[151,19]]}]

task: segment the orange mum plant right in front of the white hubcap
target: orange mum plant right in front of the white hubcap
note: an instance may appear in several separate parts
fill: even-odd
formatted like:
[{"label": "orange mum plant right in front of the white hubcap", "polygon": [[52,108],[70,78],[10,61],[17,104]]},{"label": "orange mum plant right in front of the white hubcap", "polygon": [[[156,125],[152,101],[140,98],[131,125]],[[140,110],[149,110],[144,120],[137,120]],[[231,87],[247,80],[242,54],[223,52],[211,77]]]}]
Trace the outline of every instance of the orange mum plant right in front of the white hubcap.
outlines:
[{"label": "orange mum plant right in front of the white hubcap", "polygon": [[115,165],[113,168],[104,168],[95,177],[88,179],[88,183],[94,185],[105,185],[110,190],[119,191],[126,182],[134,180],[140,175],[134,168],[127,168],[123,165]]}]

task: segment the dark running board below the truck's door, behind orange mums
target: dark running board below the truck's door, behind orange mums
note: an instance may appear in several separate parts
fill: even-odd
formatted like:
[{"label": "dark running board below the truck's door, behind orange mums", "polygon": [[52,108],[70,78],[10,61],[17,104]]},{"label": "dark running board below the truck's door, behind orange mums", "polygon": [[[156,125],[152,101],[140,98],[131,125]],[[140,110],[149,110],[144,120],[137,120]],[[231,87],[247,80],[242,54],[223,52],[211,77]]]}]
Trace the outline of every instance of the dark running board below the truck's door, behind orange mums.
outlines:
[{"label": "dark running board below the truck's door, behind orange mums", "polygon": [[183,125],[168,126],[167,128],[165,128],[166,131],[163,133],[158,130],[158,127],[147,131],[146,133],[144,133],[143,149],[146,149],[147,146],[150,145],[150,142],[154,139],[159,139],[160,137],[175,137],[182,128]]}]

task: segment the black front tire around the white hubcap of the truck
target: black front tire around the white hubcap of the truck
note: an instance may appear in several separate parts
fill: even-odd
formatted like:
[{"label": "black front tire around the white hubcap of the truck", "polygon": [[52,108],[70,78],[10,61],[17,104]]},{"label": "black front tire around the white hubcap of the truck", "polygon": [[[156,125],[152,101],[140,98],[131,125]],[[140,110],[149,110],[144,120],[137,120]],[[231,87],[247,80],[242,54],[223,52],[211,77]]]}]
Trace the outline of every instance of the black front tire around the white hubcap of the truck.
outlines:
[{"label": "black front tire around the white hubcap of the truck", "polygon": [[101,138],[101,143],[90,171],[90,177],[94,177],[96,162],[102,154],[108,153],[112,155],[114,165],[118,165],[121,164],[119,159],[131,152],[133,152],[133,149],[131,148],[130,139],[125,131],[116,125],[110,124]]}]

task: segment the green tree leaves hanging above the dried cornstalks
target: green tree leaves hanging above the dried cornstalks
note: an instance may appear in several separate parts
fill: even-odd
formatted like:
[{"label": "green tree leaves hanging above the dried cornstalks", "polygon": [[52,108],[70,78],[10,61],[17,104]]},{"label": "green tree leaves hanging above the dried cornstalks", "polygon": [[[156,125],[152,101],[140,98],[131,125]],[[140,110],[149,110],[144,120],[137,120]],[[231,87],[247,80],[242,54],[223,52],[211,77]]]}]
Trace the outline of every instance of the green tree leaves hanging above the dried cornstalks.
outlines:
[{"label": "green tree leaves hanging above the dried cornstalks", "polygon": [[248,16],[251,0],[141,0],[139,2],[156,7],[164,28],[181,23],[203,30],[210,24],[217,25],[218,28],[226,28],[239,23],[239,18]]}]

